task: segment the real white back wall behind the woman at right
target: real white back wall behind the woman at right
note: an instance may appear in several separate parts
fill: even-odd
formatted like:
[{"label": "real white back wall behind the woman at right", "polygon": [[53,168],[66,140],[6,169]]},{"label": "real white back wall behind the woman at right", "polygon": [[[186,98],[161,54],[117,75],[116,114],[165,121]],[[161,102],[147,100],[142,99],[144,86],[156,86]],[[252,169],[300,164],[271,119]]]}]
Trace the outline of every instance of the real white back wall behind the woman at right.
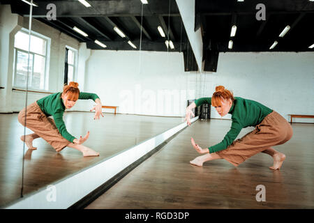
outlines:
[{"label": "real white back wall behind the woman at right", "polygon": [[[261,102],[287,120],[288,114],[314,114],[313,52],[220,53],[217,72],[206,72],[205,84],[204,77],[202,81],[204,96],[223,85],[235,96]],[[211,117],[220,118],[213,107]],[[313,123],[313,118],[294,121]]]}]

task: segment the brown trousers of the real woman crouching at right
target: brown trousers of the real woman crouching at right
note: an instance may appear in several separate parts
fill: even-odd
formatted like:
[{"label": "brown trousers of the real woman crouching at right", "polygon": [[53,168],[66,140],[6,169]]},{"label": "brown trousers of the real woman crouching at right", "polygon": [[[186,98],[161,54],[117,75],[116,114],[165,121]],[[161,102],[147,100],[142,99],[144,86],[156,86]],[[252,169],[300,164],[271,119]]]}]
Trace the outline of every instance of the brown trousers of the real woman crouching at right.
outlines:
[{"label": "brown trousers of the real woman crouching at right", "polygon": [[249,157],[260,153],[271,146],[284,144],[293,134],[290,123],[277,112],[271,112],[241,139],[235,140],[223,151],[216,152],[235,167]]}]

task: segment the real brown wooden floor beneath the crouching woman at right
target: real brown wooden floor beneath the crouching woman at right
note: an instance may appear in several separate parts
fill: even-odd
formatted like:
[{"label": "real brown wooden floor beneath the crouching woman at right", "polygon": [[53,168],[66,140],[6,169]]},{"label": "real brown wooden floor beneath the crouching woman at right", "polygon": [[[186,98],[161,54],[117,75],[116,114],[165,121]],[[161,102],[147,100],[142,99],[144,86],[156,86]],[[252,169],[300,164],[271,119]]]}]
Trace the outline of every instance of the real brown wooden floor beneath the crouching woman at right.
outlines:
[{"label": "real brown wooden floor beneath the crouching woman at right", "polygon": [[[189,164],[202,147],[220,142],[230,121],[197,121],[136,167],[87,208],[314,208],[314,125],[293,124],[294,136],[276,150],[287,156],[281,170],[259,153],[237,168],[226,160]],[[242,130],[239,137],[253,130]],[[256,201],[256,186],[266,201]]]}]

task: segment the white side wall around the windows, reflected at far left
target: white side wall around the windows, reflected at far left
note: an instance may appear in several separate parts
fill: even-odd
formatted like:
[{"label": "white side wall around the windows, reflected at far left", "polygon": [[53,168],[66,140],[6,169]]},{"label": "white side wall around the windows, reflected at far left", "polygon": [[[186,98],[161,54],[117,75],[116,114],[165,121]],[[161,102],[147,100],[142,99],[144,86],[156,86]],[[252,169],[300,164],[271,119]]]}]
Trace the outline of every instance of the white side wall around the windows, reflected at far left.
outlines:
[{"label": "white side wall around the windows, reflected at far left", "polygon": [[[19,112],[25,106],[25,93],[12,91],[13,88],[13,56],[14,36],[20,29],[29,28],[29,18],[10,13],[10,6],[0,5],[0,112]],[[49,86],[47,91],[62,91],[64,77],[64,61],[66,45],[79,49],[79,42],[57,29],[42,22],[32,20],[32,31],[51,38],[50,58],[48,66]],[[27,104],[45,97],[48,94],[28,93]]]}]

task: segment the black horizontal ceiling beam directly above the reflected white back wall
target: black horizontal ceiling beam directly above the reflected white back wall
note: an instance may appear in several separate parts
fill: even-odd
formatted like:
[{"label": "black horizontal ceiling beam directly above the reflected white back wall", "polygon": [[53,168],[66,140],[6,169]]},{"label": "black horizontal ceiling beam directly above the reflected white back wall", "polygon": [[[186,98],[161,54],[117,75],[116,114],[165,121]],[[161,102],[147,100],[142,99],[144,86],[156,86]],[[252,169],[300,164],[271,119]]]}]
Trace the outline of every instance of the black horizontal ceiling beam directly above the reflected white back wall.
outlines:
[{"label": "black horizontal ceiling beam directly above the reflected white back wall", "polygon": [[[139,46],[140,45],[140,40],[134,40],[132,41],[134,45]],[[105,44],[107,47],[103,48],[94,43],[93,41],[88,41],[87,42],[87,48],[88,49],[104,49],[104,50],[140,50],[139,47],[137,49],[134,49],[126,41],[102,41],[103,44]],[[148,40],[142,40],[141,43],[141,50],[142,51],[157,51],[157,52],[180,52],[180,45],[181,45],[181,51],[184,51],[186,49],[186,44],[182,43],[180,44],[179,42],[174,42],[174,49],[167,49],[166,45],[164,42],[153,42],[153,41],[148,41]]]}]

